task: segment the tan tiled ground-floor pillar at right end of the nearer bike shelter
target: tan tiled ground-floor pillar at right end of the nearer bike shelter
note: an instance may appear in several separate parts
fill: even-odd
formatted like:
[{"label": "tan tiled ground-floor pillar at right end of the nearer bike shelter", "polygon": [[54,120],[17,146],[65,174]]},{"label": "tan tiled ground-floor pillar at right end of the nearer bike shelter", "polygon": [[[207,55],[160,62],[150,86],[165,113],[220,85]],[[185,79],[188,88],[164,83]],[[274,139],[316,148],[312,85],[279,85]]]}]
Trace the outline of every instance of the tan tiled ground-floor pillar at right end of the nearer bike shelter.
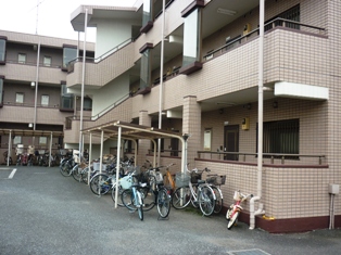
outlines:
[{"label": "tan tiled ground-floor pillar at right end of the nearer bike shelter", "polygon": [[189,133],[187,140],[187,162],[189,168],[194,167],[197,151],[201,149],[201,106],[197,103],[197,97],[188,95],[184,98],[182,111],[182,133]]}]

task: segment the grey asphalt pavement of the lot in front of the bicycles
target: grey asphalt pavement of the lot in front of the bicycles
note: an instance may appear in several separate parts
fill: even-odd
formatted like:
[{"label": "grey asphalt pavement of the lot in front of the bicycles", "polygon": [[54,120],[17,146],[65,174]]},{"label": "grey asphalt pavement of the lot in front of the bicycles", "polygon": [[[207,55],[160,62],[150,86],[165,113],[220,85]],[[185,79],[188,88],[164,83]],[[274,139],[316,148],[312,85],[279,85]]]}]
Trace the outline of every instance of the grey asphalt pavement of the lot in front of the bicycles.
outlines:
[{"label": "grey asphalt pavement of the lot in front of the bicycles", "polygon": [[167,219],[153,208],[141,221],[58,167],[0,166],[1,255],[341,254],[340,229],[270,234],[226,224],[193,208],[172,208]]}]

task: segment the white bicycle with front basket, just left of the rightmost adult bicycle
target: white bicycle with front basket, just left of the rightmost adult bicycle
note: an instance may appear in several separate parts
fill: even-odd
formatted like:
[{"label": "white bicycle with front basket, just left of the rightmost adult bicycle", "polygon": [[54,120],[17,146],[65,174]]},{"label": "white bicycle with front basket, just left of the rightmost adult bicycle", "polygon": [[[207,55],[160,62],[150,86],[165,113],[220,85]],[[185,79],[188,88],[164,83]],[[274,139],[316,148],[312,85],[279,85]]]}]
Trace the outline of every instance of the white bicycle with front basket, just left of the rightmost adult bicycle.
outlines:
[{"label": "white bicycle with front basket, just left of the rightmost adult bicycle", "polygon": [[201,180],[203,171],[210,171],[204,168],[199,170],[197,168],[187,171],[190,174],[178,173],[176,175],[177,188],[172,196],[172,205],[176,209],[182,209],[190,203],[195,207],[200,207],[204,216],[210,216],[214,212],[216,196],[213,189],[205,180]]}]

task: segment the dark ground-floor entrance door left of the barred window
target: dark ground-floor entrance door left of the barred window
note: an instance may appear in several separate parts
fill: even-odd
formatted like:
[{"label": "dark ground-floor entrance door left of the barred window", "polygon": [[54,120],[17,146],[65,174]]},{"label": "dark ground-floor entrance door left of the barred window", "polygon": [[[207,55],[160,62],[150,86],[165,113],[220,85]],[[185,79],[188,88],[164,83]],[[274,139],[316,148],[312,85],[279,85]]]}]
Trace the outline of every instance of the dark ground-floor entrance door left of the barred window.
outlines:
[{"label": "dark ground-floor entrance door left of the barred window", "polygon": [[[225,126],[224,152],[239,152],[239,125]],[[226,154],[224,160],[238,161],[238,155]]]}]

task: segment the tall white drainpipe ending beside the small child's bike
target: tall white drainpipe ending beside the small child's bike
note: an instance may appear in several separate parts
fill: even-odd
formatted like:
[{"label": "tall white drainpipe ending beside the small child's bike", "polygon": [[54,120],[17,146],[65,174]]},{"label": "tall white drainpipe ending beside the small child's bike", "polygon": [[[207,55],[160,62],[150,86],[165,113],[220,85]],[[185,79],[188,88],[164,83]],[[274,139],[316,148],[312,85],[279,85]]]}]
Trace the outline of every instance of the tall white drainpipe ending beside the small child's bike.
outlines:
[{"label": "tall white drainpipe ending beside the small child's bike", "polygon": [[258,52],[258,158],[257,158],[257,195],[250,200],[250,228],[255,227],[255,216],[265,214],[263,204],[254,212],[254,202],[262,197],[263,168],[263,72],[264,72],[264,0],[260,0],[260,52]]}]

